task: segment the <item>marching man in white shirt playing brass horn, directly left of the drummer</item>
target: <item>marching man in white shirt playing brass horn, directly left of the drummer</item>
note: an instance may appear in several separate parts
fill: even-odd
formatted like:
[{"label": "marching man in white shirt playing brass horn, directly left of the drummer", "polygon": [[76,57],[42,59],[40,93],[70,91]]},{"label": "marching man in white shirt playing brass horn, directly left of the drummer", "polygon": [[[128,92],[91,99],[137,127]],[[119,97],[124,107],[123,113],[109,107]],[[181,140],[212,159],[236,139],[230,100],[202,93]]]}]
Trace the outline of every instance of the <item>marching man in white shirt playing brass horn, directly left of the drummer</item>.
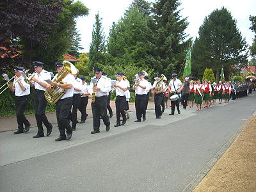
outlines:
[{"label": "marching man in white shirt playing brass horn, directly left of the drummer", "polygon": [[162,109],[161,109],[161,103],[163,101],[163,92],[165,88],[164,82],[160,82],[161,74],[156,74],[155,82],[152,86],[152,92],[154,92],[154,103],[155,103],[155,114],[156,118],[161,118],[162,116]]}]

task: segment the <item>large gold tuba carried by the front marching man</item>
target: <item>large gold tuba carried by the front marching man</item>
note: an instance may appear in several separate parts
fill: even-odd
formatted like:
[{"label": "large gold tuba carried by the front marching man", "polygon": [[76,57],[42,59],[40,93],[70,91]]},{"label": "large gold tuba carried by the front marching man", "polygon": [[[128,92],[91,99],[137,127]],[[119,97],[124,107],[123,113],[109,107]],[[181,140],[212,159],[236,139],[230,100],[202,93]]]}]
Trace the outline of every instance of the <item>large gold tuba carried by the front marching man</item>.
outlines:
[{"label": "large gold tuba carried by the front marching man", "polygon": [[[52,82],[63,84],[63,79],[68,74],[77,74],[76,67],[70,63],[69,61],[63,61],[63,69],[61,70],[60,74],[54,79]],[[44,93],[45,99],[47,102],[54,104],[56,103],[65,93],[67,92],[67,89],[63,89],[60,87],[54,87],[51,88],[51,90],[46,90]]]}]

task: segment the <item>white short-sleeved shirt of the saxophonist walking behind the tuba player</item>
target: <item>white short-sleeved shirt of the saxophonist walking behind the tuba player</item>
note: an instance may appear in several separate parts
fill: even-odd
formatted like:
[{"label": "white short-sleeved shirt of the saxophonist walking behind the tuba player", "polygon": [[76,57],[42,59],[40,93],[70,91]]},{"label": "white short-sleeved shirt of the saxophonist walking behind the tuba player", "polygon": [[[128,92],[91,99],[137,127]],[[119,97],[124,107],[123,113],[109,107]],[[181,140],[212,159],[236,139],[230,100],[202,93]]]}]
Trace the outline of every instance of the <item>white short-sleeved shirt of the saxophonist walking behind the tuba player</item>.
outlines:
[{"label": "white short-sleeved shirt of the saxophonist walking behind the tuba player", "polygon": [[[109,81],[108,77],[101,76],[100,79],[97,79],[96,86],[100,88],[99,91],[95,92],[96,97],[102,97],[104,95],[108,95],[108,92],[111,91],[111,81]],[[90,95],[92,95],[92,92],[93,92],[92,87],[93,87],[93,84],[92,84],[92,81],[91,81],[89,89],[88,89]]]}]

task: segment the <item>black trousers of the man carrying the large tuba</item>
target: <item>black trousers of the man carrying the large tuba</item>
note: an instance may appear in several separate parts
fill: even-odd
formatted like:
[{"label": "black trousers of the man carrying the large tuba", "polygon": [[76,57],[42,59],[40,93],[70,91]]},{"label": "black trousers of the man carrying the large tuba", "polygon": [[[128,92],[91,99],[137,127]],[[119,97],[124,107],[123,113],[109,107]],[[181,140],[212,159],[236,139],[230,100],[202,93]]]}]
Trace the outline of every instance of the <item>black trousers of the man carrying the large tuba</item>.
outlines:
[{"label": "black trousers of the man carrying the large tuba", "polygon": [[60,99],[56,102],[56,116],[57,122],[59,126],[60,136],[62,138],[66,137],[66,130],[67,134],[72,133],[72,128],[68,122],[68,113],[72,107],[73,98],[68,97],[66,99]]}]

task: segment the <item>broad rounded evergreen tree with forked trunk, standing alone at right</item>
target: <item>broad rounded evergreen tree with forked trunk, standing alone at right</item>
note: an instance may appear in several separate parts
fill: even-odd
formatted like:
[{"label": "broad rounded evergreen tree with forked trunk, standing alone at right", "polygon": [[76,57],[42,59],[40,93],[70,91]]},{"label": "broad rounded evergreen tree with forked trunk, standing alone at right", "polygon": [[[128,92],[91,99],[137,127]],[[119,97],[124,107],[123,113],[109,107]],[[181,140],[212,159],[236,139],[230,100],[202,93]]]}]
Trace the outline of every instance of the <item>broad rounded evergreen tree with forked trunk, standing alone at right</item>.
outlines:
[{"label": "broad rounded evergreen tree with forked trunk, standing alone at right", "polygon": [[220,79],[220,68],[225,70],[228,79],[230,66],[246,62],[246,41],[237,29],[236,20],[226,8],[214,10],[198,31],[193,47],[193,63],[197,68],[211,67]]}]

